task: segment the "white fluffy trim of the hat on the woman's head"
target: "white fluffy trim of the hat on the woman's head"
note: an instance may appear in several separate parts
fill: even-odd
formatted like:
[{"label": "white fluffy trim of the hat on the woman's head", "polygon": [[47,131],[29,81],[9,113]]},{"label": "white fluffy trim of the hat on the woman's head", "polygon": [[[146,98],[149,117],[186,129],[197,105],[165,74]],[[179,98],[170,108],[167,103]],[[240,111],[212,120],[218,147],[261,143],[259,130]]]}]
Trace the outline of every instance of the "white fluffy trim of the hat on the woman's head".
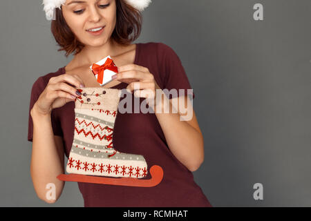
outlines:
[{"label": "white fluffy trim of the hat on the woman's head", "polygon": [[[124,0],[129,5],[133,6],[140,12],[149,6],[151,0]],[[44,0],[44,11],[46,12],[46,19],[55,19],[55,9],[60,8],[66,3],[66,0]]]}]

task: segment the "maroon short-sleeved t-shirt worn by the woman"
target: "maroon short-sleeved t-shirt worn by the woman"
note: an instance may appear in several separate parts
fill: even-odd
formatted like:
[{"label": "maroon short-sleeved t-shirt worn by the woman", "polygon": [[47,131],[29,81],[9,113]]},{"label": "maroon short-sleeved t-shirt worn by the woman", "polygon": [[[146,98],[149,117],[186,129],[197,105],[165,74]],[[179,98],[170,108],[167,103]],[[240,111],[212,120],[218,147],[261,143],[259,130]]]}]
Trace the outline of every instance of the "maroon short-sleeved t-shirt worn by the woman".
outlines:
[{"label": "maroon short-sleeved t-shirt worn by the woman", "polygon": [[[178,55],[166,44],[156,42],[137,44],[134,64],[149,68],[162,89],[191,89]],[[64,73],[64,67],[59,68],[56,73],[48,73],[35,81],[29,111],[46,88],[50,77]],[[121,83],[112,88],[123,89],[127,85]],[[133,94],[132,96],[134,97]],[[140,102],[144,100],[144,98],[135,99],[140,99]],[[68,102],[51,112],[54,135],[63,137],[67,158],[73,144],[74,108],[75,103]],[[30,113],[28,141],[32,142]],[[141,113],[141,111],[120,113],[118,110],[113,131],[113,148],[122,153],[143,155],[149,169],[153,165],[161,166],[164,171],[163,180],[158,186],[149,188],[78,183],[79,191],[84,198],[84,206],[211,206],[200,186],[194,182],[191,171],[171,153],[154,113]],[[150,173],[146,178],[150,178]]]}]

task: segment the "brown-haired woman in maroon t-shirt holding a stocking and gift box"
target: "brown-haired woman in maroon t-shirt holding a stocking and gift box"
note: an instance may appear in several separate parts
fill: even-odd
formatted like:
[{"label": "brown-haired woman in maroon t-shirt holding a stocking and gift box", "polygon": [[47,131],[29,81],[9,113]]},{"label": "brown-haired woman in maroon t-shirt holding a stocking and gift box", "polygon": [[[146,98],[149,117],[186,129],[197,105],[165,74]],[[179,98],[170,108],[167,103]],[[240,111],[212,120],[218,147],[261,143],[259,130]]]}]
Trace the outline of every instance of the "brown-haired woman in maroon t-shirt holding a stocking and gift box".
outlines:
[{"label": "brown-haired woman in maroon t-shirt holding a stocking and gift box", "polygon": [[[149,1],[141,2],[148,5]],[[169,46],[131,44],[140,34],[139,10],[144,8],[140,6],[129,0],[67,0],[55,10],[51,30],[59,50],[75,56],[67,66],[39,77],[32,86],[30,172],[35,191],[45,202],[55,202],[64,188],[56,177],[64,173],[64,154],[68,157],[73,143],[76,88],[100,86],[89,69],[91,64],[110,55],[119,73],[104,88],[126,88],[133,93],[138,84],[141,90],[135,96],[141,100],[146,96],[144,90],[191,88],[180,59]],[[47,17],[51,17],[50,10]],[[182,99],[189,102],[186,97]],[[204,159],[196,115],[180,121],[179,112],[118,112],[113,146],[122,153],[144,155],[149,168],[161,166],[163,180],[151,188],[78,183],[84,206],[211,206],[191,173]],[[46,198],[49,183],[55,184],[55,199]]]}]

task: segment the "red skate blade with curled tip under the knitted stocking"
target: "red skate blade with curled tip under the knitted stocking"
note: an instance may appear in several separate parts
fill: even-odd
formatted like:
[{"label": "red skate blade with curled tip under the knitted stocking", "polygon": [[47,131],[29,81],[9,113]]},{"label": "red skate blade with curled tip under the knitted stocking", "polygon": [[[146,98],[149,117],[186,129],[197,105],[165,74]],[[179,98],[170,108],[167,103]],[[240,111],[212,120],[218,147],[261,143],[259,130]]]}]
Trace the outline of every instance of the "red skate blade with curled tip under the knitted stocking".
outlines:
[{"label": "red skate blade with curled tip under the knitted stocking", "polygon": [[131,177],[95,177],[93,175],[82,175],[82,174],[60,174],[57,176],[58,180],[69,181],[69,182],[88,182],[92,184],[109,184],[116,186],[140,186],[140,187],[153,187],[162,181],[163,170],[161,166],[153,165],[150,169],[151,179],[141,180],[138,178]]}]

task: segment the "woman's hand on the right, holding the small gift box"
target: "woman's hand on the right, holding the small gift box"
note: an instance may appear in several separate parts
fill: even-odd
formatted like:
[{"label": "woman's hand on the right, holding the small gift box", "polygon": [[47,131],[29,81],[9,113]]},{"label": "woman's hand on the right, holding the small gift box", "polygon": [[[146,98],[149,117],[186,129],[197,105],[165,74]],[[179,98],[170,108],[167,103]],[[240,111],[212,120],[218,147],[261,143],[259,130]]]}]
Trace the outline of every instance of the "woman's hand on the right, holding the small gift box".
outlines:
[{"label": "woman's hand on the right, holding the small gift box", "polygon": [[147,98],[147,103],[156,102],[156,89],[161,89],[148,68],[136,64],[128,64],[117,68],[113,79],[129,84],[126,87],[135,97]]}]

